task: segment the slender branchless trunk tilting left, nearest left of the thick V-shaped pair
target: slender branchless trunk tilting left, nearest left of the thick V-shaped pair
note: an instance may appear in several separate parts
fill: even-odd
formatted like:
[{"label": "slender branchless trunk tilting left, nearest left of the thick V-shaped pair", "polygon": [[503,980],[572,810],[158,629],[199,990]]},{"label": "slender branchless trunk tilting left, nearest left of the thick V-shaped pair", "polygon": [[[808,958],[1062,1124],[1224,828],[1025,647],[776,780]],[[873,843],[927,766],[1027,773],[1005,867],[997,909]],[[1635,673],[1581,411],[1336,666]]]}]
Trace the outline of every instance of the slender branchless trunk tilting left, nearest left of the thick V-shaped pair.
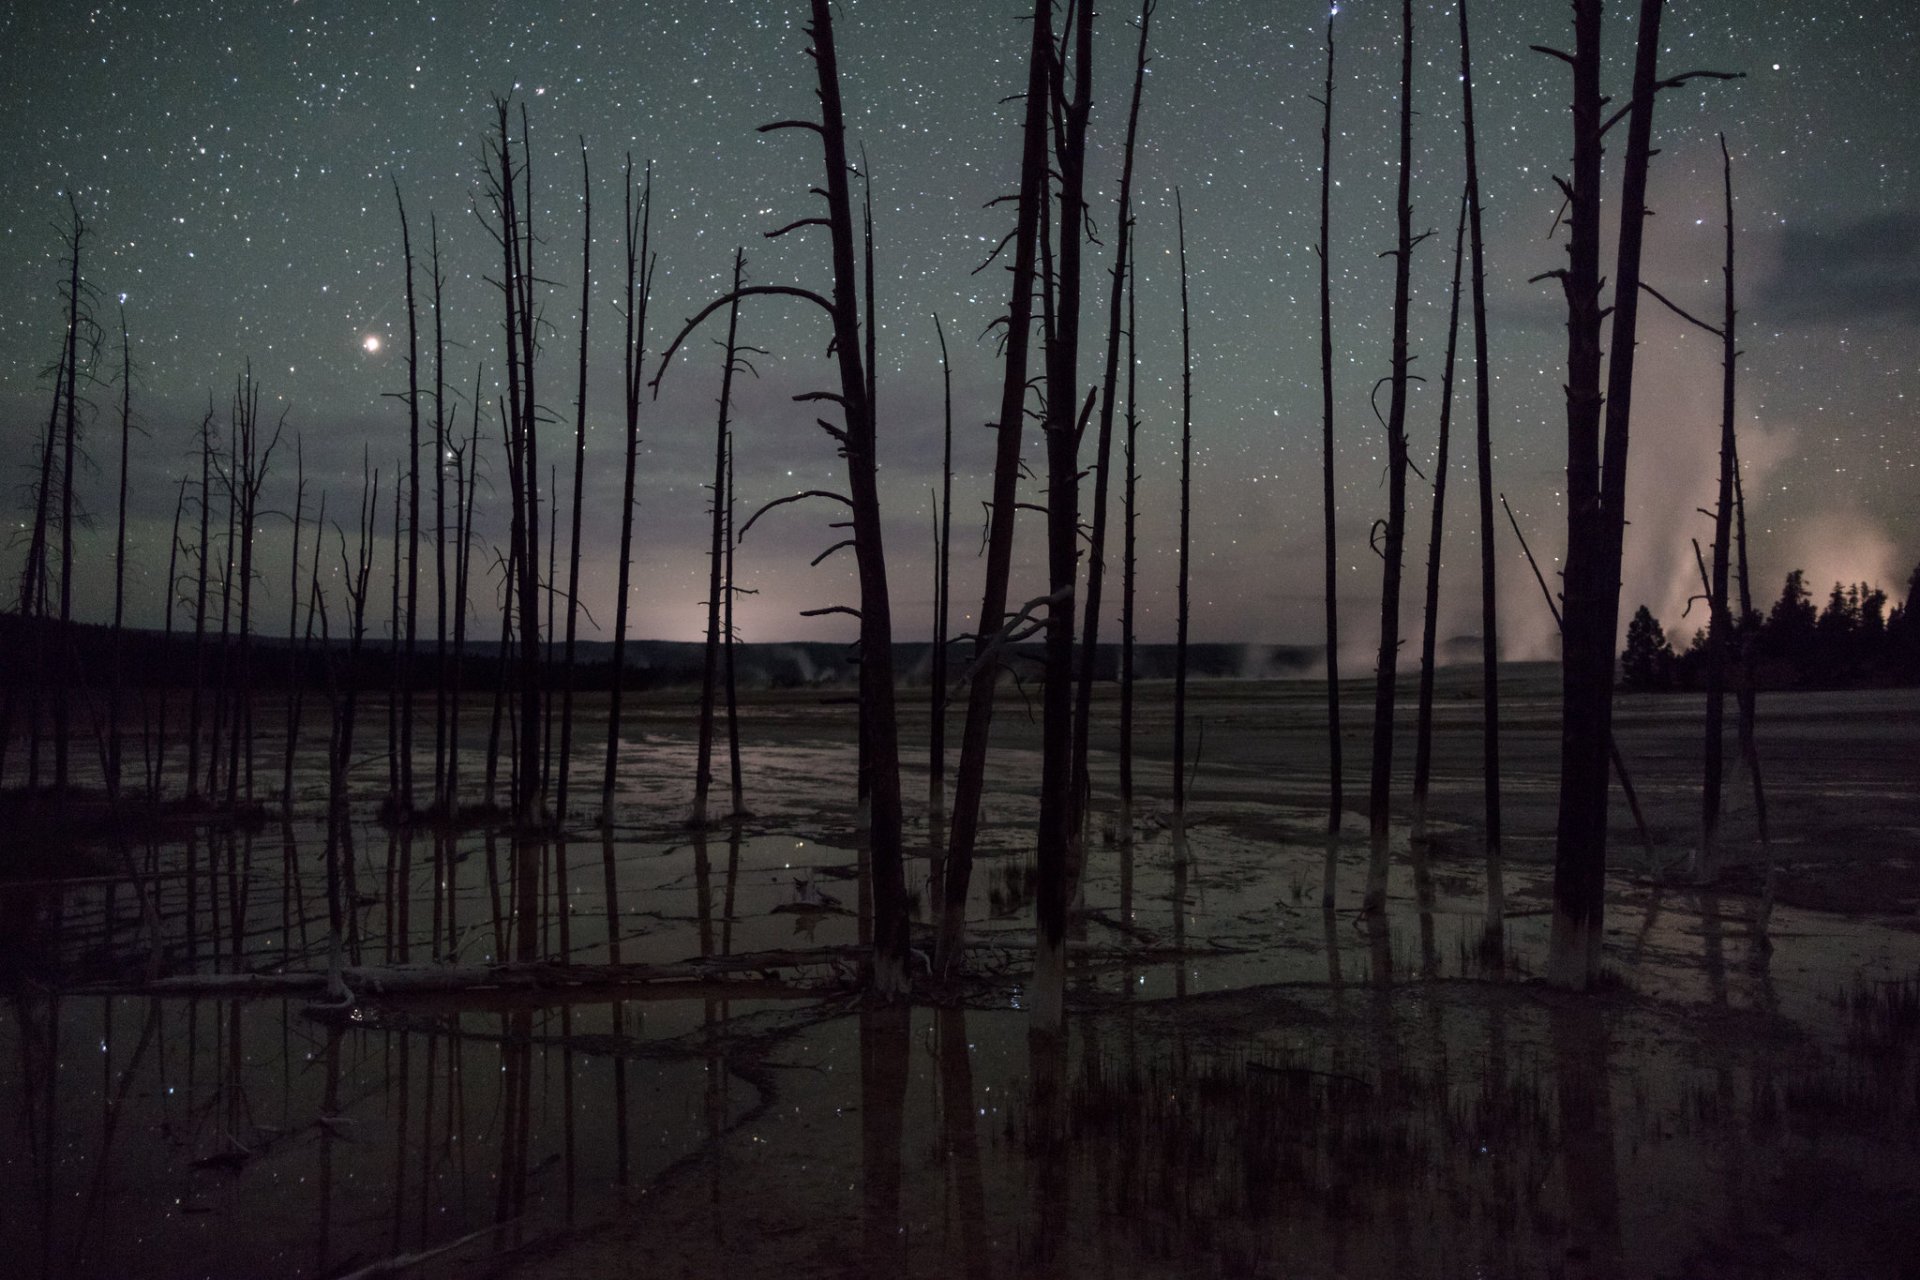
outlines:
[{"label": "slender branchless trunk tilting left, nearest left of the thick V-shaped pair", "polygon": [[1505,944],[1507,890],[1500,844],[1500,614],[1494,578],[1492,374],[1486,355],[1486,255],[1480,234],[1480,152],[1473,121],[1473,46],[1459,0],[1461,134],[1467,150],[1467,240],[1473,249],[1473,418],[1480,480],[1480,789],[1486,841],[1486,942]]}]

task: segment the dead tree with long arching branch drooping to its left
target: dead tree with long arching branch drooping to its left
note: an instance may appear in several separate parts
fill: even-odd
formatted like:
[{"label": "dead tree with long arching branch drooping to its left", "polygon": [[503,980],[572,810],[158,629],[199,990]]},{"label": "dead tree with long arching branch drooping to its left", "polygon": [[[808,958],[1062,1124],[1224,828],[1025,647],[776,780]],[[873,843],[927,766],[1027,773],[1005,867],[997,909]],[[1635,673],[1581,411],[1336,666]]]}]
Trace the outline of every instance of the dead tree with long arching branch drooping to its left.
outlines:
[{"label": "dead tree with long arching branch drooping to its left", "polygon": [[[804,217],[781,226],[770,236],[781,236],[806,226],[826,226],[833,249],[831,297],[791,284],[749,284],[714,301],[685,322],[680,336],[660,357],[660,372],[653,378],[659,393],[660,378],[680,344],[707,317],[733,303],[735,297],[774,296],[797,297],[824,311],[833,326],[831,351],[839,363],[839,391],[810,391],[803,399],[826,399],[839,405],[843,424],[822,422],[822,428],[847,459],[845,495],[835,495],[852,514],[852,553],[860,581],[860,725],[872,758],[872,848],[874,848],[874,986],[883,994],[900,994],[908,986],[906,969],[906,873],[900,858],[900,758],[899,723],[895,722],[893,689],[893,610],[887,599],[887,560],[881,545],[879,486],[874,455],[872,390],[862,363],[858,278],[854,274],[852,198],[847,184],[847,125],[841,109],[839,59],[833,46],[833,13],[829,0],[810,0],[806,33],[812,38],[812,59],[818,73],[820,119],[783,119],[762,125],[762,132],[799,129],[820,138],[824,159],[826,217]],[[874,322],[874,317],[868,317]],[[741,530],[745,532],[745,530]],[[845,610],[845,606],[835,606]]]}]

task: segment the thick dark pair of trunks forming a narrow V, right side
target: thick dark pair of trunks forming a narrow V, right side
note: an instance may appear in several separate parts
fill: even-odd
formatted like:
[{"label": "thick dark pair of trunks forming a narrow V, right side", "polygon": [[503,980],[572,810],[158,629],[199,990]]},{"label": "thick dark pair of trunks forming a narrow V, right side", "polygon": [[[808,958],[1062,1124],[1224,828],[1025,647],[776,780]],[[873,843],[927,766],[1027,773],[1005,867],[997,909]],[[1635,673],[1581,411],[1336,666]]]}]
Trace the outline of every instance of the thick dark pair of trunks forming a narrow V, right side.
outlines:
[{"label": "thick dark pair of trunks forming a narrow V, right side", "polygon": [[[1574,52],[1542,50],[1572,67],[1572,178],[1567,267],[1548,273],[1567,296],[1567,568],[1561,651],[1561,787],[1553,862],[1553,938],[1548,979],[1586,988],[1599,975],[1607,881],[1607,747],[1613,741],[1613,643],[1626,530],[1626,451],[1632,424],[1640,257],[1653,157],[1653,98],[1699,75],[1661,79],[1663,0],[1642,0],[1634,92],[1603,117],[1601,0],[1574,0]],[[1599,384],[1601,140],[1626,121],[1619,249],[1613,273],[1613,359]],[[1601,434],[1605,405],[1605,434]]]}]

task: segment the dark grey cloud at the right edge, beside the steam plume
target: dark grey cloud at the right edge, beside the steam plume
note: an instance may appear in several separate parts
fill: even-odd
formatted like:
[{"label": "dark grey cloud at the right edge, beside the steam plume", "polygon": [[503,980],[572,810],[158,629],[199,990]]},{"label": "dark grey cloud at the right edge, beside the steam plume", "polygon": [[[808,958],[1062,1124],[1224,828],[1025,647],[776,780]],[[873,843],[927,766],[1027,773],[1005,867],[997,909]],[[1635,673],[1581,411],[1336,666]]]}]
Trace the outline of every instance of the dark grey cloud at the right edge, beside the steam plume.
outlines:
[{"label": "dark grey cloud at the right edge, beside the steam plume", "polygon": [[1920,324],[1920,209],[1784,228],[1755,311],[1789,324]]}]

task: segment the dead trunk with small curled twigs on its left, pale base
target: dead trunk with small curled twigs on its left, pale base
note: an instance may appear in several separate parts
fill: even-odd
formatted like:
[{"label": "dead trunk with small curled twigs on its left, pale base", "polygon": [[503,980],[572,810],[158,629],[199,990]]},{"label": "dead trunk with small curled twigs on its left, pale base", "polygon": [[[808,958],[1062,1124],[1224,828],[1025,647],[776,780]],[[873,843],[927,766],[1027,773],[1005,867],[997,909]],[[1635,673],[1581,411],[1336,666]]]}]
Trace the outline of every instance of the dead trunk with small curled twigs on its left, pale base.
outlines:
[{"label": "dead trunk with small curled twigs on its left, pale base", "polygon": [[[1386,910],[1394,819],[1394,681],[1400,674],[1400,574],[1407,526],[1407,274],[1413,265],[1413,0],[1400,4],[1400,198],[1394,205],[1394,353],[1386,399],[1386,522],[1380,530],[1380,654],[1373,668],[1373,770],[1367,787],[1369,913]],[[1423,236],[1425,238],[1425,236]]]}]

